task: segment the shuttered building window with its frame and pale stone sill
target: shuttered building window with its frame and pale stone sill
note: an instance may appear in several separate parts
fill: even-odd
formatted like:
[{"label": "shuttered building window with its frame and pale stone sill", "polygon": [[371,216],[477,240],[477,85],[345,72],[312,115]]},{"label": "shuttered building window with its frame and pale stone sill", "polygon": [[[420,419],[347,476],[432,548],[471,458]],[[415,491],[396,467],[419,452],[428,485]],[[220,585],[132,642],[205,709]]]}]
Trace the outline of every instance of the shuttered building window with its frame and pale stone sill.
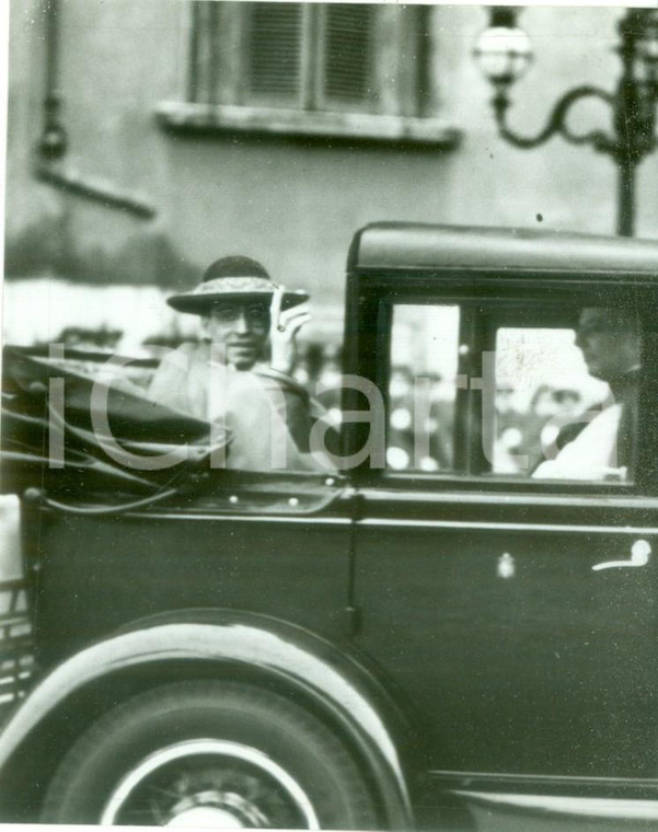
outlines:
[{"label": "shuttered building window with its frame and pale stone sill", "polygon": [[349,136],[452,147],[436,112],[435,9],[194,0],[187,96],[168,128]]}]

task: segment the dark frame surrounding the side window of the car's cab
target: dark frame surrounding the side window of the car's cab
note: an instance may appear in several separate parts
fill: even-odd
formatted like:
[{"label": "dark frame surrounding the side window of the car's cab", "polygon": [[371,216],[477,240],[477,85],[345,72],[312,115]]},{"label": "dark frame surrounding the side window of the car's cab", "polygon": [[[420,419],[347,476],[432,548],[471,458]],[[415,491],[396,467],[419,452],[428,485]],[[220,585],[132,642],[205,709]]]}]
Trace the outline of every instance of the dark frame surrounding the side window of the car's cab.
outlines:
[{"label": "dark frame surrounding the side window of the car's cab", "polygon": [[[500,280],[495,279],[500,276]],[[392,278],[395,278],[394,280]],[[386,488],[420,489],[430,492],[489,492],[508,494],[545,495],[592,495],[600,498],[614,497],[658,497],[658,423],[649,424],[651,400],[658,401],[658,362],[653,366],[651,355],[658,355],[658,316],[651,309],[658,309],[658,286],[644,279],[642,282],[630,276],[612,274],[568,274],[568,273],[518,273],[501,274],[500,270],[473,273],[449,269],[419,274],[411,273],[408,279],[400,273],[369,275],[368,279],[355,280],[359,286],[361,311],[368,312],[370,321],[376,320],[376,333],[370,343],[360,347],[360,354],[370,354],[370,360],[360,365],[366,378],[379,388],[389,416],[389,379],[391,370],[391,326],[392,310],[399,303],[428,305],[482,304],[486,308],[505,310],[519,309],[519,304],[542,305],[557,311],[568,302],[576,310],[586,305],[615,305],[616,302],[635,302],[643,328],[643,358],[640,394],[637,420],[637,453],[632,482],[592,482],[568,479],[532,479],[523,476],[503,474],[463,475],[454,472],[403,472],[386,467],[372,469],[367,463],[353,472],[356,483],[379,485]],[[358,321],[358,317],[357,317]],[[353,322],[354,325],[355,322]],[[376,353],[377,361],[371,354]],[[368,375],[370,371],[370,375]],[[461,370],[460,370],[461,372]],[[353,434],[354,438],[365,436],[362,426]]]}]

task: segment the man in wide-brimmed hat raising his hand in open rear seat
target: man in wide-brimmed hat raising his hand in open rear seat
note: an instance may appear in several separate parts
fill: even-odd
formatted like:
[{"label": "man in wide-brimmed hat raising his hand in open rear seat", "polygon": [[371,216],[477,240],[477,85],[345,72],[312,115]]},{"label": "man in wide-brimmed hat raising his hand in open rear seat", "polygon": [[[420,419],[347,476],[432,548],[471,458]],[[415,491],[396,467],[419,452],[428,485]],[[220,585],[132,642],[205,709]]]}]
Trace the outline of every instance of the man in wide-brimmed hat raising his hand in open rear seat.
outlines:
[{"label": "man in wide-brimmed hat raising his hand in open rear seat", "polygon": [[[314,469],[309,435],[315,409],[289,374],[295,336],[310,319],[309,296],[273,282],[250,257],[223,257],[193,291],[168,303],[199,315],[204,339],[161,362],[149,397],[226,426],[230,469]],[[276,459],[275,459],[276,458]]]}]

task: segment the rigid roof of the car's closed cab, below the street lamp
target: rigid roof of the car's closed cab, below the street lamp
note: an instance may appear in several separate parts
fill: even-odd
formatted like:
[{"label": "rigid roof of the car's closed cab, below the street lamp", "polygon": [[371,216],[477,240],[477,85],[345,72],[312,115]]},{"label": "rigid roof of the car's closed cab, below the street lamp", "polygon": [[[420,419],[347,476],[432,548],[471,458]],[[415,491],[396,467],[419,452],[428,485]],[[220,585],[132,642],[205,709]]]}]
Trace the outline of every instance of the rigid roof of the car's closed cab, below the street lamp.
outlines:
[{"label": "rigid roof of the car's closed cab, below the street lamp", "polygon": [[658,280],[658,241],[534,229],[378,222],[358,231],[348,271],[482,269],[628,273]]}]

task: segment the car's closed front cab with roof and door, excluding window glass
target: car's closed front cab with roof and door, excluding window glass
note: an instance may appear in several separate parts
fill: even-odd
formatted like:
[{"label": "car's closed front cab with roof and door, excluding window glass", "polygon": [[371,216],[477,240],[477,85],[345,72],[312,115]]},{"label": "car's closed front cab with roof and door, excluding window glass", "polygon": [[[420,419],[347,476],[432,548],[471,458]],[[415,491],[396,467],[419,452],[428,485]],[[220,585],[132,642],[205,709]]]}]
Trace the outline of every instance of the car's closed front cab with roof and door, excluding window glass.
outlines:
[{"label": "car's closed front cab with roof and door, excluding window glass", "polygon": [[[656,795],[657,290],[651,241],[376,223],[353,242],[347,321],[359,337],[347,371],[384,395],[396,303],[476,309],[489,338],[495,325],[513,325],[504,322],[515,310],[531,326],[554,326],[569,314],[575,324],[580,308],[622,303],[643,325],[633,485],[471,469],[397,476],[367,462],[354,472],[356,642],[418,707],[436,795],[507,794],[515,811],[541,808],[542,795]],[[493,344],[460,344],[460,372],[482,384],[473,358]],[[363,402],[348,391],[345,406]],[[353,447],[368,429],[348,426]],[[459,441],[482,441],[466,434]],[[651,557],[628,567],[638,543]],[[593,569],[603,564],[616,566]],[[550,813],[605,817],[592,806],[567,801]]]}]

